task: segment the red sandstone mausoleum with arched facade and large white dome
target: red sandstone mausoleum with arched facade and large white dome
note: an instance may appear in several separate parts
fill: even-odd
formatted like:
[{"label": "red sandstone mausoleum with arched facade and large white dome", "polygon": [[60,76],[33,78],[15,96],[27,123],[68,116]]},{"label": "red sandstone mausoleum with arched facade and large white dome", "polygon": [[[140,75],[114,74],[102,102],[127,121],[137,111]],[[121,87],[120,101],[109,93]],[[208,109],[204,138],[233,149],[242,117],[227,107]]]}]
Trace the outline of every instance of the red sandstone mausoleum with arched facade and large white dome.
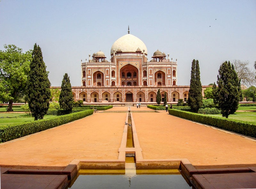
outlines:
[{"label": "red sandstone mausoleum with arched facade and large white dome", "polygon": [[[189,86],[177,85],[177,59],[173,61],[169,54],[156,50],[148,62],[146,45],[130,34],[129,27],[128,34],[112,45],[110,56],[108,62],[105,54],[99,51],[89,55],[85,62],[81,60],[81,86],[72,87],[75,101],[156,104],[158,89],[162,100],[164,92],[167,93],[169,104],[176,103],[179,98],[188,99]],[[204,91],[208,86],[202,87]]]}]

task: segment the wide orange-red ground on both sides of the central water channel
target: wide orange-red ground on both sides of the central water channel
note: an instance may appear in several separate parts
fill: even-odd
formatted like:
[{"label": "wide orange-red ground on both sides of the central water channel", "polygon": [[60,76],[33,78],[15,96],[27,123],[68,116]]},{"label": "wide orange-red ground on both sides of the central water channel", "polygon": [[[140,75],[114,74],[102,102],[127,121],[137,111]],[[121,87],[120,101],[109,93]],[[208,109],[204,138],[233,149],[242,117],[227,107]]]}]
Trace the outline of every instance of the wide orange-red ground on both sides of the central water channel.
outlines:
[{"label": "wide orange-red ground on both sides of the central water channel", "polygon": [[[127,107],[0,144],[0,165],[62,169],[72,160],[117,160]],[[197,168],[256,166],[256,140],[131,107],[143,159],[187,158]],[[136,111],[141,111],[137,113]],[[143,111],[151,111],[143,112]],[[51,167],[48,167],[51,166]]]}]

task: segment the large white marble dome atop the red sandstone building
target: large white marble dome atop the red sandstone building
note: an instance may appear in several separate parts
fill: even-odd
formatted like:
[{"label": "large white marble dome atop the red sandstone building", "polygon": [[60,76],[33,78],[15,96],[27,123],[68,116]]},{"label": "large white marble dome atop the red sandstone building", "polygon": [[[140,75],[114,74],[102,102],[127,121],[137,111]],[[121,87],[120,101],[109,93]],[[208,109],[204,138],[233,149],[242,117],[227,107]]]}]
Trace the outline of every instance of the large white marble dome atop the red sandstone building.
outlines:
[{"label": "large white marble dome atop the red sandstone building", "polygon": [[121,49],[122,53],[136,53],[137,48],[140,48],[142,53],[145,50],[145,54],[148,55],[147,47],[142,40],[132,34],[126,34],[115,41],[111,47],[110,55],[113,55],[113,50],[116,51],[117,49]]}]

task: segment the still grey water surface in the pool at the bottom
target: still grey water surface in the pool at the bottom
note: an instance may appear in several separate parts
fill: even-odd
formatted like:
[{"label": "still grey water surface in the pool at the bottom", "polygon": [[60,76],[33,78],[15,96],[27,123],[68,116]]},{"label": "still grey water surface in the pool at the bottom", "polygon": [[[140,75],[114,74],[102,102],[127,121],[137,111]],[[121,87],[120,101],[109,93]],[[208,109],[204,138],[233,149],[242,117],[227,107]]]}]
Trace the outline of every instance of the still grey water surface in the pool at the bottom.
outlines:
[{"label": "still grey water surface in the pool at the bottom", "polygon": [[79,175],[71,189],[191,189],[180,174]]}]

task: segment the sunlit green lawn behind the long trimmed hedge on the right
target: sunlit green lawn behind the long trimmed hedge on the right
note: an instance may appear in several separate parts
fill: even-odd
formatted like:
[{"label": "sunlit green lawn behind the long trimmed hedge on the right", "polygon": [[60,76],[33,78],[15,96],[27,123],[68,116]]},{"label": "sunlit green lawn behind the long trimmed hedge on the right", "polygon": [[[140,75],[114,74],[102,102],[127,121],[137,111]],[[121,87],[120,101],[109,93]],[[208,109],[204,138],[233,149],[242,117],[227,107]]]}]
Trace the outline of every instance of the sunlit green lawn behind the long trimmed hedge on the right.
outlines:
[{"label": "sunlit green lawn behind the long trimmed hedge on the right", "polygon": [[[254,107],[254,106],[251,106]],[[222,117],[220,114],[212,116]],[[241,121],[250,121],[256,123],[256,112],[236,112],[235,114],[229,115],[228,119],[235,119]]]}]

